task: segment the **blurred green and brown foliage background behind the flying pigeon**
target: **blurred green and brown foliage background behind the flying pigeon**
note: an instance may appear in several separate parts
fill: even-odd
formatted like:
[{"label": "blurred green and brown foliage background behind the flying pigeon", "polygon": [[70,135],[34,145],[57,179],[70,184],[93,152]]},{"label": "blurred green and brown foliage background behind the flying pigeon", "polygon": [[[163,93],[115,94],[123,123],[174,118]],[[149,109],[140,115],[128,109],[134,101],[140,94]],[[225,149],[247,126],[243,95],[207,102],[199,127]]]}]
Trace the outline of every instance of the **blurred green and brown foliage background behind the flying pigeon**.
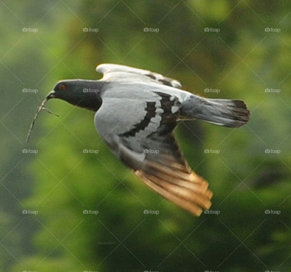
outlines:
[{"label": "blurred green and brown foliage background behind the flying pigeon", "polygon": [[[287,1],[1,1],[0,270],[290,271],[289,12]],[[219,215],[196,218],[162,201],[100,142],[94,113],[61,100],[47,107],[62,122],[41,112],[25,143],[55,83],[99,79],[101,63],[246,101],[251,120],[240,129],[194,121],[175,131],[189,165],[209,181]]]}]

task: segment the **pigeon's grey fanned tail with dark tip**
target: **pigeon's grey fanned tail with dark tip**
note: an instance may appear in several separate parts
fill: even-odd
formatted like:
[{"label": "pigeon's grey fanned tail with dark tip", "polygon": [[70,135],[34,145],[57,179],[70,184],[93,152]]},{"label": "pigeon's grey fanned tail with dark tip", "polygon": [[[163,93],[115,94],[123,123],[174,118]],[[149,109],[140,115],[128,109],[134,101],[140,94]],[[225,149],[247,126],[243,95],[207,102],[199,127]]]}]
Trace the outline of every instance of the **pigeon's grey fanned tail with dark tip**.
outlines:
[{"label": "pigeon's grey fanned tail with dark tip", "polygon": [[225,127],[240,127],[249,121],[250,112],[242,100],[192,96],[183,102],[180,114],[187,119],[200,119]]}]

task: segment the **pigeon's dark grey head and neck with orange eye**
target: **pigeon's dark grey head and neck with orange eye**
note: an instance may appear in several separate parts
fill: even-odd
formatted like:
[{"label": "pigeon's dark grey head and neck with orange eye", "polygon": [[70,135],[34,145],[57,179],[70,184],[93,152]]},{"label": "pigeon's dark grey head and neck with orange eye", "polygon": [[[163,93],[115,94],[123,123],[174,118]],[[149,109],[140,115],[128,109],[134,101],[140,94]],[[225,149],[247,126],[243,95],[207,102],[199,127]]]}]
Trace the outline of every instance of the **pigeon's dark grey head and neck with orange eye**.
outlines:
[{"label": "pigeon's dark grey head and neck with orange eye", "polygon": [[47,95],[47,99],[59,98],[72,105],[97,111],[102,104],[98,80],[61,80]]}]

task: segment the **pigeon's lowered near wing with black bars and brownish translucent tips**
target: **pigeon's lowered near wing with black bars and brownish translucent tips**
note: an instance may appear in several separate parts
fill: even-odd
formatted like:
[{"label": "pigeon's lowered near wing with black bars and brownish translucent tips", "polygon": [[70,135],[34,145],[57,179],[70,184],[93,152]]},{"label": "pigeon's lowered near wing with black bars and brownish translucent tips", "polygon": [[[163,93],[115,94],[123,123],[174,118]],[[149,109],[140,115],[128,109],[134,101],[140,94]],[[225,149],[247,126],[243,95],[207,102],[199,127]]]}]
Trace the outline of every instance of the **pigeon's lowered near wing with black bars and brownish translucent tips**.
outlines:
[{"label": "pigeon's lowered near wing with black bars and brownish translucent tips", "polygon": [[199,216],[209,209],[208,182],[192,172],[175,137],[181,103],[164,93],[106,91],[95,126],[115,155],[146,185]]}]

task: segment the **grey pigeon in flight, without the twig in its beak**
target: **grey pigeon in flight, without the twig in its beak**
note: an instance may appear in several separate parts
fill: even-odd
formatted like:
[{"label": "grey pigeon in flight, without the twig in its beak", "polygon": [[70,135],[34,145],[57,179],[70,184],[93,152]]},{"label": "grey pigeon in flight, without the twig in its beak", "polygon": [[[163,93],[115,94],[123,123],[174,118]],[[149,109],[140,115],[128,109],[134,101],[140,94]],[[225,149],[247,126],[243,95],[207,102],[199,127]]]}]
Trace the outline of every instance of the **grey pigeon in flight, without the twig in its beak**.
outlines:
[{"label": "grey pigeon in flight, without the twig in its beak", "polygon": [[183,120],[241,127],[250,115],[244,101],[200,97],[178,80],[125,65],[100,64],[96,71],[101,80],[61,80],[46,100],[94,111],[96,130],[120,161],[164,199],[200,216],[213,193],[184,159],[173,130]]}]

